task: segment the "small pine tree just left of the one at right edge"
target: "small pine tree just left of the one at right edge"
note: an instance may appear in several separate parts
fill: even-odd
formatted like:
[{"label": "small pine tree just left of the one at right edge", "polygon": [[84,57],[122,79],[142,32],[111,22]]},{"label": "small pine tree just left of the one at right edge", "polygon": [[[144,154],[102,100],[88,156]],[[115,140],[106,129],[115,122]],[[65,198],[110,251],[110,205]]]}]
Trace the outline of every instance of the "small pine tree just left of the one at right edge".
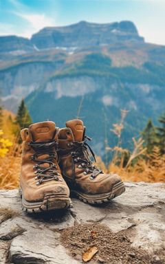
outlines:
[{"label": "small pine tree just left of the one at right edge", "polygon": [[144,131],[141,132],[141,135],[144,140],[144,146],[147,148],[147,152],[151,153],[153,147],[157,144],[156,129],[151,119],[148,120]]}]

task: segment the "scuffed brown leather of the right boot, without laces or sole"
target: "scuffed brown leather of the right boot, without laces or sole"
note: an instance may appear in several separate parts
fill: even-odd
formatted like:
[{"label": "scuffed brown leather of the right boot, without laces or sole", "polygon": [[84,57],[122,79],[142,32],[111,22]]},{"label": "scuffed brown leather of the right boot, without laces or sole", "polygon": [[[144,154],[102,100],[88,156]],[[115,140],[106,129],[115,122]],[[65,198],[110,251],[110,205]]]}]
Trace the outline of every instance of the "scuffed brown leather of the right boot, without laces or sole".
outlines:
[{"label": "scuffed brown leather of the right boot, without laces or sole", "polygon": [[58,131],[58,149],[61,153],[58,155],[58,164],[67,183],[72,188],[91,195],[110,192],[114,184],[121,181],[120,177],[113,173],[100,173],[95,179],[90,179],[92,173],[84,175],[85,169],[78,168],[79,164],[74,163],[71,152],[72,142],[82,142],[85,126],[82,120],[70,120],[66,125],[67,128]]}]

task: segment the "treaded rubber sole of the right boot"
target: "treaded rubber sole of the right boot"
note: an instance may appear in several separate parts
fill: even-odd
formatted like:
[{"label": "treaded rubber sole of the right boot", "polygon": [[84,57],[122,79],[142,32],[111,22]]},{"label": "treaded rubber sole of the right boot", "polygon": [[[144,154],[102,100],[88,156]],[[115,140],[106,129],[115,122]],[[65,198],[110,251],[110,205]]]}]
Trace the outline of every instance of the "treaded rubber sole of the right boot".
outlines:
[{"label": "treaded rubber sole of the right boot", "polygon": [[109,200],[121,195],[125,191],[125,187],[122,181],[118,184],[114,184],[111,192],[102,193],[99,195],[87,195],[84,192],[77,190],[71,190],[81,201],[85,203],[107,203]]}]

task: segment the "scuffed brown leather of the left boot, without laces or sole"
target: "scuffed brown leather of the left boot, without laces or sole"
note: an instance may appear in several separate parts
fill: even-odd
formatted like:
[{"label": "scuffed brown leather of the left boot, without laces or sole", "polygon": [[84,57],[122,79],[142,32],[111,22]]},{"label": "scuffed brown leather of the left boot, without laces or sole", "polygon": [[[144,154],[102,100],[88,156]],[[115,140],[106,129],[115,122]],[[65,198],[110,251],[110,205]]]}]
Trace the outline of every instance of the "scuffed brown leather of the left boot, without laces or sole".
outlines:
[{"label": "scuffed brown leather of the left boot, without laces or sole", "polygon": [[[45,129],[46,128],[46,129]],[[21,137],[23,140],[23,153],[22,153],[22,164],[21,164],[21,175],[20,175],[20,187],[23,192],[23,197],[27,201],[41,201],[46,194],[64,194],[69,197],[69,188],[65,183],[61,175],[61,170],[58,166],[57,160],[54,159],[54,164],[57,166],[59,178],[61,181],[45,181],[41,185],[36,185],[36,174],[33,166],[36,162],[30,160],[30,157],[34,154],[34,150],[28,145],[29,142],[45,141],[56,138],[56,126],[54,122],[39,122],[30,125],[28,129],[21,131]],[[45,158],[47,155],[42,155],[40,158]],[[42,166],[49,166],[43,164]]]}]

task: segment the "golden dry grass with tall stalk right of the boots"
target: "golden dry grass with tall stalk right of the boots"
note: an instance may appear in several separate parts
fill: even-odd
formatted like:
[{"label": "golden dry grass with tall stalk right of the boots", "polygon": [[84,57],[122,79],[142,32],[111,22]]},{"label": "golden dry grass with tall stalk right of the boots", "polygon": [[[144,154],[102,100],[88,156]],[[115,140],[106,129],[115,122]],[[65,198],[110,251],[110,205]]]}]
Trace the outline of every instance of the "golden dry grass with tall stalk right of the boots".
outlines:
[{"label": "golden dry grass with tall stalk right of the boots", "polygon": [[[123,181],[146,181],[165,182],[165,155],[161,155],[157,146],[153,148],[150,155],[146,153],[144,140],[133,137],[134,148],[132,153],[128,149],[122,148],[122,129],[124,129],[124,119],[128,111],[121,110],[121,121],[113,124],[111,132],[118,137],[118,144],[113,148],[107,146],[106,150],[113,153],[113,159],[105,166],[100,157],[96,158],[96,164],[107,173],[117,173]],[[124,164],[126,155],[129,159]]]}]

